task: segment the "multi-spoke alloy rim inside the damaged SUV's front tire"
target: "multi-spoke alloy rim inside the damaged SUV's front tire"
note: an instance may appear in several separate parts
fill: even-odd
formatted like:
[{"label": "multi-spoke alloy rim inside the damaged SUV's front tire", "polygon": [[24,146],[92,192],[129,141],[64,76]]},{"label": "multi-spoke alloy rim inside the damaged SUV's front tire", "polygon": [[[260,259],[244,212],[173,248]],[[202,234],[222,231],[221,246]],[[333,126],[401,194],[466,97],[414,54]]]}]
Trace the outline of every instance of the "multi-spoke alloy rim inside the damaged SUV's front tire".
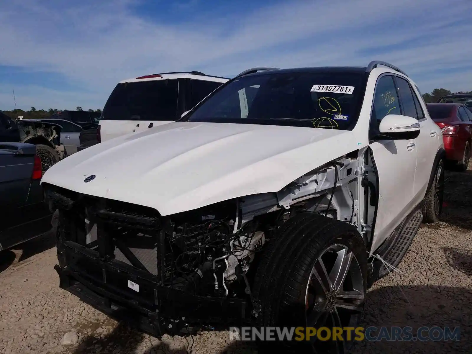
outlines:
[{"label": "multi-spoke alloy rim inside the damaged SUV's front tire", "polygon": [[[305,293],[306,327],[357,327],[364,309],[364,279],[354,253],[335,244],[323,251],[313,265]],[[323,331],[322,331],[323,332]],[[322,333],[323,337],[327,333]],[[319,340],[313,336],[313,349],[319,353],[345,353],[355,334],[343,340]]]}]

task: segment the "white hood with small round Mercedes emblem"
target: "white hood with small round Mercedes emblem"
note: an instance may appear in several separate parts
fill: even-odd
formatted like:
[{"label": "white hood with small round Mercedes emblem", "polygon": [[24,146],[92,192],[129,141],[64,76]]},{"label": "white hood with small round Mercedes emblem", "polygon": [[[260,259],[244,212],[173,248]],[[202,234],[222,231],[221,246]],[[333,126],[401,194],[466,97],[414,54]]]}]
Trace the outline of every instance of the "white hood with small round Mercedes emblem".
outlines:
[{"label": "white hood with small round Mercedes emblem", "polygon": [[[357,148],[353,133],[344,130],[174,122],[68,156],[41,183],[152,207],[165,216],[277,192]],[[95,179],[85,183],[90,175]]]}]

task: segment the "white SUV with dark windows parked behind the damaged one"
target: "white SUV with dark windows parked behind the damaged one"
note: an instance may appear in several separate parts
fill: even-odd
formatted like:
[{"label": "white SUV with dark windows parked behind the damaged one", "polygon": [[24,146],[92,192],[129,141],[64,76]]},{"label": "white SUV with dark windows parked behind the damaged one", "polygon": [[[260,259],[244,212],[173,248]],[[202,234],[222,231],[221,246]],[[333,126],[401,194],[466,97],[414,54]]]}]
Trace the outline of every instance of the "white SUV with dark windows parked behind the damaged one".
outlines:
[{"label": "white SUV with dark windows parked behind the damaged one", "polygon": [[99,142],[173,122],[228,80],[199,71],[123,80],[103,108],[97,134]]}]

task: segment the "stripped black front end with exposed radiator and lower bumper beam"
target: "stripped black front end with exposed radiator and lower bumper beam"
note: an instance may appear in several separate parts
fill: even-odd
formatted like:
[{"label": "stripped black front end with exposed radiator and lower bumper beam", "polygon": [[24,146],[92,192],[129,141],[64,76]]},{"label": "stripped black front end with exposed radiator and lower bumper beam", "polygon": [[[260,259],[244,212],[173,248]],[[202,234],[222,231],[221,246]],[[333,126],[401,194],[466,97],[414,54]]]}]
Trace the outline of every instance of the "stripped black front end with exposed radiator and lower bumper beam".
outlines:
[{"label": "stripped black front end with exposed radiator and lower bumper beam", "polygon": [[[51,187],[45,185],[45,194],[50,208],[59,209],[55,270],[62,289],[156,337],[251,322],[251,301],[244,295],[211,294],[215,273],[169,278],[169,269],[181,269],[172,262],[195,253],[194,241],[202,244],[197,232],[178,239],[175,223],[156,211]],[[178,242],[169,244],[170,235]],[[177,256],[179,245],[185,251]]]}]

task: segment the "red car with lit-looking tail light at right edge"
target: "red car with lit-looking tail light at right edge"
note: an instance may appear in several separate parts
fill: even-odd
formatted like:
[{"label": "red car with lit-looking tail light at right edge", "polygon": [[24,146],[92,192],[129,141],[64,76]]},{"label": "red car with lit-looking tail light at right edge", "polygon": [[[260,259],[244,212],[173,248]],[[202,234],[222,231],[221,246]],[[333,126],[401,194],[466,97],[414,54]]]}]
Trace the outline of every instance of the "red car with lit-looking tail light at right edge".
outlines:
[{"label": "red car with lit-looking tail light at right edge", "polygon": [[441,128],[447,162],[465,171],[471,157],[472,112],[460,103],[427,103],[426,107]]}]

